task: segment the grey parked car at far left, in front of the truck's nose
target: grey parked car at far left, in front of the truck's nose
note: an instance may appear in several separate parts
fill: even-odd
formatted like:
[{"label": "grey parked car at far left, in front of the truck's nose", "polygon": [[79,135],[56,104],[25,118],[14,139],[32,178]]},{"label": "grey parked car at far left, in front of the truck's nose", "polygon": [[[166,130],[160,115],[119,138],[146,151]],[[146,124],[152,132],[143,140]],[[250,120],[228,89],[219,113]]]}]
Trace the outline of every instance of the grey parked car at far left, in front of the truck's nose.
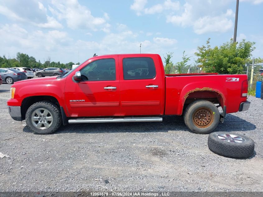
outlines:
[{"label": "grey parked car at far left, in front of the truck's nose", "polygon": [[26,73],[13,68],[0,68],[0,74],[2,81],[8,84],[27,79]]}]

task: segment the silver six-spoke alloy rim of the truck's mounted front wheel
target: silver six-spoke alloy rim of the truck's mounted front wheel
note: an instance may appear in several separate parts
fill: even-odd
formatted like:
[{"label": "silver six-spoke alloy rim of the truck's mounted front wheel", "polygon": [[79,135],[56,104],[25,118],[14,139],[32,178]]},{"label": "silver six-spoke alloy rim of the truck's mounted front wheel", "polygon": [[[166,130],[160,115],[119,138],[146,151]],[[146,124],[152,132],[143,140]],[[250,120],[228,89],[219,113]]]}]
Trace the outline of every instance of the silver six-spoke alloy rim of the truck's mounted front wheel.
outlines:
[{"label": "silver six-spoke alloy rim of the truck's mounted front wheel", "polygon": [[35,128],[45,130],[53,124],[53,116],[49,110],[39,108],[32,113],[31,122]]}]

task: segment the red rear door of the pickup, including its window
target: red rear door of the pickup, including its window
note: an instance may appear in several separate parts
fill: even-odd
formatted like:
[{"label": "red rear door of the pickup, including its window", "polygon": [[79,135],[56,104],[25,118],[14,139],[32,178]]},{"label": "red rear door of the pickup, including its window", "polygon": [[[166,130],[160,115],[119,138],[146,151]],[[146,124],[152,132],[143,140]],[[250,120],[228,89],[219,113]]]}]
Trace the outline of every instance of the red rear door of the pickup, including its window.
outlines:
[{"label": "red rear door of the pickup, including its window", "polygon": [[156,55],[119,55],[121,115],[160,115],[162,80]]}]

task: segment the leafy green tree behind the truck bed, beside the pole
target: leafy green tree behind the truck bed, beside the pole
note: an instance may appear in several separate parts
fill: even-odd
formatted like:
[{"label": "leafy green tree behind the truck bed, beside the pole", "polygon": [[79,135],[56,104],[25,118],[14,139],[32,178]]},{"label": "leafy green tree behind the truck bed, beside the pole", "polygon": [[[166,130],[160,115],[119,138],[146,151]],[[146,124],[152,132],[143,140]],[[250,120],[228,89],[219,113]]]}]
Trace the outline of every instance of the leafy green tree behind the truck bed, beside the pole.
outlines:
[{"label": "leafy green tree behind the truck bed, beside the pole", "polygon": [[230,39],[229,42],[221,46],[211,48],[210,38],[206,41],[206,46],[197,47],[198,52],[195,55],[198,57],[196,63],[207,73],[221,74],[241,74],[243,65],[246,60],[251,57],[251,52],[255,49],[255,42],[242,40],[234,42]]}]

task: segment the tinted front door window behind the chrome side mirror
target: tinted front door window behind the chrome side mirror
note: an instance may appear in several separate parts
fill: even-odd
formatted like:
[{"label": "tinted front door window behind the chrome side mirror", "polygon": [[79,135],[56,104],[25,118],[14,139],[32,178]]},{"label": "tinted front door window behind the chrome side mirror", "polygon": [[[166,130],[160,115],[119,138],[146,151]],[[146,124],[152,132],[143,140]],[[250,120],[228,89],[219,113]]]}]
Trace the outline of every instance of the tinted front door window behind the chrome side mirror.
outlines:
[{"label": "tinted front door window behind the chrome side mirror", "polygon": [[116,80],[114,59],[98,59],[80,70],[82,81]]}]

